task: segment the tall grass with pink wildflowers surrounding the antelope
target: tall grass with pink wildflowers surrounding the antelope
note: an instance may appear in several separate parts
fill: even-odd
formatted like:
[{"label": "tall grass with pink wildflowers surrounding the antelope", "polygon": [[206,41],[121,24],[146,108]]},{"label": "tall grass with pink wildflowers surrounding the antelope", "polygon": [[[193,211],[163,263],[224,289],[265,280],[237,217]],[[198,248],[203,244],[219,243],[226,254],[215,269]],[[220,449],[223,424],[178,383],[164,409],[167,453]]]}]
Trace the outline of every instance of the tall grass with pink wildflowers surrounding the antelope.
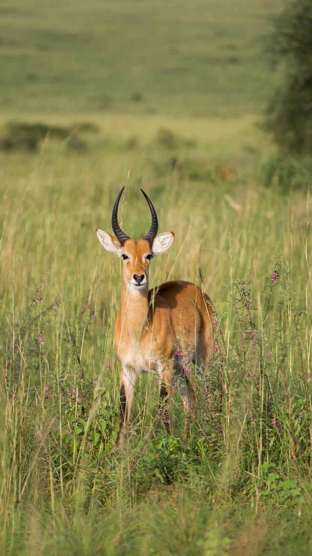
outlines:
[{"label": "tall grass with pink wildflowers surrounding the antelope", "polygon": [[[108,152],[46,142],[3,158],[2,553],[307,554],[310,197],[217,162],[194,178],[161,145]],[[148,229],[144,184],[160,231],[175,233],[151,285],[203,285],[217,320],[207,374],[190,375],[190,438],[178,395],[165,435],[144,376],[117,449],[120,269],[95,229],[110,230],[124,182],[125,231]]]}]

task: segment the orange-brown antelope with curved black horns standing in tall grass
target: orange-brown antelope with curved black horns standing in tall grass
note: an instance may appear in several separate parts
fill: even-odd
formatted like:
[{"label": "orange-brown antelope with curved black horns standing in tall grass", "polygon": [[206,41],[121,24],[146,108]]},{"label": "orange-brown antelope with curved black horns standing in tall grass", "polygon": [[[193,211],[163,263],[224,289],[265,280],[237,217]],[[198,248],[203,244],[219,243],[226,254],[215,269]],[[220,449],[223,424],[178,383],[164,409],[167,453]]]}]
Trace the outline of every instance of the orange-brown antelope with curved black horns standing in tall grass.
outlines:
[{"label": "orange-brown antelope with curved black horns standing in tall grass", "polygon": [[173,232],[157,235],[158,219],[147,194],[141,189],[152,215],[147,235],[130,239],[118,225],[120,190],[112,213],[114,236],[97,229],[107,251],[122,259],[121,306],[115,321],[114,348],[121,364],[120,414],[117,443],[123,439],[133,404],[135,383],[144,372],[158,376],[160,409],[167,432],[171,434],[169,401],[173,376],[182,380],[183,405],[188,415],[195,408],[195,392],[185,372],[184,353],[193,364],[204,366],[212,354],[214,315],[212,302],[191,282],[165,282],[148,289],[150,261],[169,249]]}]

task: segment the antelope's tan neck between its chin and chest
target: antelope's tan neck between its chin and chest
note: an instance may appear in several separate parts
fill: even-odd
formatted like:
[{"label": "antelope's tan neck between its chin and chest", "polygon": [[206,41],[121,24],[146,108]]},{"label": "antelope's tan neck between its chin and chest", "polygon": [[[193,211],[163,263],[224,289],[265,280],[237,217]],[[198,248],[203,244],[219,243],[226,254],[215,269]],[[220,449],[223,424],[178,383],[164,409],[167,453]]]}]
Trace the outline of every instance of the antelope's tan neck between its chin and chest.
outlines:
[{"label": "antelope's tan neck between its chin and chest", "polygon": [[138,340],[148,324],[148,285],[137,290],[123,281],[121,319],[130,338]]}]

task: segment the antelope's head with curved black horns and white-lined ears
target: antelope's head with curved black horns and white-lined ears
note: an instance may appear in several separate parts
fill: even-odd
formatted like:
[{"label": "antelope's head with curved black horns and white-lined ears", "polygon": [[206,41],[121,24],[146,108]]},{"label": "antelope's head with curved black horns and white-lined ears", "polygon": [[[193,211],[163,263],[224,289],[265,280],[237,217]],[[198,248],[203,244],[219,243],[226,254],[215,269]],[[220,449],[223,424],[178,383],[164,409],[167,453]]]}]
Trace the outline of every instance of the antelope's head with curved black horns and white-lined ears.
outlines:
[{"label": "antelope's head with curved black horns and white-lined ears", "polygon": [[141,189],[148,202],[152,214],[152,225],[147,235],[142,240],[134,241],[124,234],[118,225],[118,205],[124,187],[119,192],[115,201],[112,214],[112,228],[114,236],[104,230],[97,229],[100,243],[107,251],[116,253],[123,260],[123,279],[133,290],[148,289],[149,263],[154,255],[160,255],[167,249],[174,240],[173,232],[164,232],[157,235],[158,220],[156,211],[147,194]]}]

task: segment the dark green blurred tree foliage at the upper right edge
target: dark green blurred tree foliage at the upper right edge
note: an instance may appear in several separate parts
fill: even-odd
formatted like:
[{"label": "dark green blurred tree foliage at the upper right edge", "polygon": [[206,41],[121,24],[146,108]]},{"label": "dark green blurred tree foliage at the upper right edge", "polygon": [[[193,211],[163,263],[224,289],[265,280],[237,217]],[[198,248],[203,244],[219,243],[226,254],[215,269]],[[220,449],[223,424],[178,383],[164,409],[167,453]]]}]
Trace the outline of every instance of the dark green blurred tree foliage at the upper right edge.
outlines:
[{"label": "dark green blurred tree foliage at the upper right edge", "polygon": [[269,50],[281,82],[266,109],[266,127],[281,151],[312,147],[312,2],[293,0],[275,17]]}]

